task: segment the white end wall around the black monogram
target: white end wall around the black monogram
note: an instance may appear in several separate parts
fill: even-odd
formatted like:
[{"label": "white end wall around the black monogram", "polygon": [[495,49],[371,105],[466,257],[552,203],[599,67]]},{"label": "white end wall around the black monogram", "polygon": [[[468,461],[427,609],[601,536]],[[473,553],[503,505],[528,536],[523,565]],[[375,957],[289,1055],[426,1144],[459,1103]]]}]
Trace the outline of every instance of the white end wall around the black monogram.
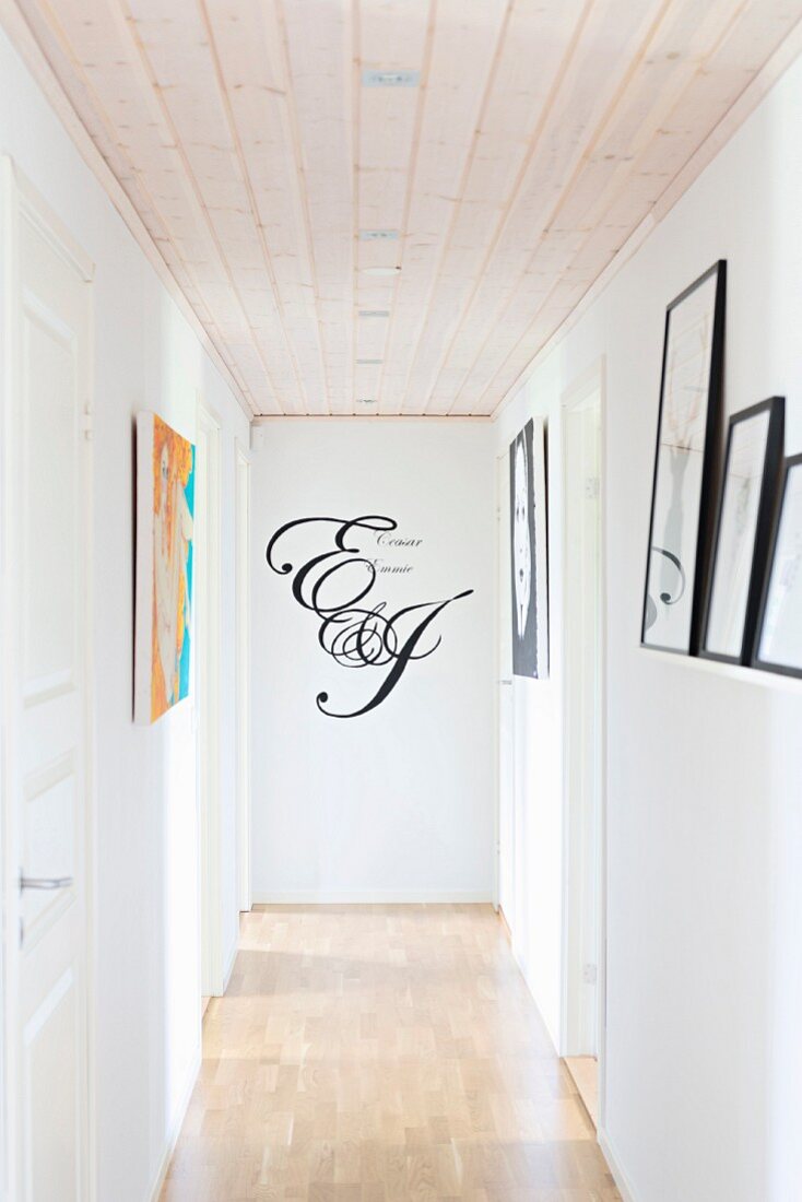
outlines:
[{"label": "white end wall around the black monogram", "polygon": [[[491,898],[492,434],[488,423],[375,418],[260,429],[251,465],[256,899]],[[429,659],[410,664],[376,709],[343,720],[317,710],[321,689],[331,708],[360,708],[386,668],[335,665],[317,644],[315,614],[265,559],[283,523],[321,514],[387,514],[399,535],[422,540],[381,553],[412,571],[380,576],[369,600],[394,611],[475,590],[439,615],[442,644]],[[329,549],[331,537],[315,529],[295,546],[311,555]],[[293,554],[289,543],[286,558]]]}]

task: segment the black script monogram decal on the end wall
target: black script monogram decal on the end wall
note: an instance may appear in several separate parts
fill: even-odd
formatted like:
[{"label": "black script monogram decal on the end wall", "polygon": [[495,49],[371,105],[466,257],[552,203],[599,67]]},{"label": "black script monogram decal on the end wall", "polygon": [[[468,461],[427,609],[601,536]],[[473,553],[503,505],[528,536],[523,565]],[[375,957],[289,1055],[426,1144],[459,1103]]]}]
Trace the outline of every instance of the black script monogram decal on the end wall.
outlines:
[{"label": "black script monogram decal on the end wall", "polygon": [[[320,523],[331,549],[307,559],[298,567],[291,563],[278,564],[274,555],[278,543],[298,526]],[[406,667],[424,660],[440,645],[441,637],[429,635],[429,627],[453,601],[470,596],[473,589],[457,593],[445,601],[422,601],[391,614],[386,601],[368,600],[381,563],[370,558],[366,543],[378,548],[394,541],[398,546],[417,546],[420,540],[391,540],[398,529],[392,518],[369,514],[343,518],[297,518],[280,526],[267,545],[268,566],[279,576],[292,576],[292,595],[304,609],[320,619],[317,642],[332,659],[346,668],[386,668],[369,700],[351,713],[328,708],[328,694],[319,692],[317,708],[329,718],[358,718],[380,706],[393,691]],[[410,570],[408,565],[405,569]]]}]

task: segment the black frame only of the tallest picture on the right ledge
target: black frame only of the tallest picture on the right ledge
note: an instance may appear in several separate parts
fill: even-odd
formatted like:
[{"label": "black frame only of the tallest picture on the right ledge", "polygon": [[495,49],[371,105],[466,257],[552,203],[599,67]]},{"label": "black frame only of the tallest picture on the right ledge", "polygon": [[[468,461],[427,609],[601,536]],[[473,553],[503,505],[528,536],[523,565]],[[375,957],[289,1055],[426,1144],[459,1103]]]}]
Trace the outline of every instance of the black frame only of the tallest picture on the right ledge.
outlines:
[{"label": "black frame only of the tallest picture on the right ledge", "polygon": [[[711,278],[715,278],[715,299],[713,302],[713,323],[709,350],[709,373],[707,380],[706,410],[705,410],[705,439],[702,450],[702,471],[699,495],[699,523],[696,526],[696,546],[693,554],[694,583],[690,606],[690,623],[687,645],[671,647],[665,643],[647,638],[647,632],[652,625],[649,621],[649,605],[654,602],[649,596],[649,577],[652,570],[652,557],[654,554],[654,519],[658,496],[658,484],[660,474],[660,447],[663,445],[663,422],[666,398],[666,365],[669,362],[669,347],[671,341],[671,319]],[[697,655],[701,643],[702,614],[705,596],[707,594],[707,578],[713,542],[713,523],[715,518],[715,482],[718,475],[721,423],[723,423],[723,386],[724,386],[724,327],[726,311],[726,260],[720,258],[706,272],[703,272],[693,284],[684,288],[679,296],[669,304],[666,309],[665,331],[663,339],[663,365],[660,371],[660,404],[658,409],[658,429],[654,451],[654,471],[652,475],[652,507],[649,512],[649,538],[646,552],[646,571],[643,577],[643,606],[641,612],[641,647],[657,651],[667,651],[673,655]],[[665,551],[660,548],[663,554]],[[667,555],[671,559],[671,555]],[[675,560],[676,561],[676,560]],[[677,563],[679,578],[684,579],[682,565]],[[665,601],[661,595],[660,600]],[[669,601],[669,603],[673,603]]]}]

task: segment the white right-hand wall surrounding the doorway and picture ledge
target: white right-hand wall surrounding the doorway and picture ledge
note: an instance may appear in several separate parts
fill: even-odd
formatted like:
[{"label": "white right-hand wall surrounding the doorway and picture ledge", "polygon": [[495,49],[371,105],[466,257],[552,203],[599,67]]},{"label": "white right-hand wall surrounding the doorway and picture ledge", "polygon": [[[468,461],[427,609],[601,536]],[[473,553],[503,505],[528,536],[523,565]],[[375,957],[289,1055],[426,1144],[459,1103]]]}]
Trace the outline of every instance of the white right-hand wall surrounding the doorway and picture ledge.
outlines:
[{"label": "white right-hand wall surrounding the doorway and picture ledge", "polygon": [[559,406],[605,357],[605,1126],[635,1202],[802,1194],[802,686],[638,647],[665,307],[719,257],[727,410],[784,394],[802,451],[801,109],[797,63],[497,423],[500,452],[529,413],[549,422],[553,674],[516,684],[531,742],[515,939],[559,1039],[560,880],[530,921],[539,865],[562,864]]}]

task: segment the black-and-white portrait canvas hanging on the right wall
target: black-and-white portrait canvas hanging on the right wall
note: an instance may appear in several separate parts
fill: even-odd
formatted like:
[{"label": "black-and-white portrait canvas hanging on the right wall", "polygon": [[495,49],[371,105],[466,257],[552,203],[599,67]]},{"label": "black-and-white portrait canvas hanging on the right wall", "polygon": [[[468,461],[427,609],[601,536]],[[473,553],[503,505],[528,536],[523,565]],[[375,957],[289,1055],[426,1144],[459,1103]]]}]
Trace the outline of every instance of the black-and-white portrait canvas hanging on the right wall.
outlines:
[{"label": "black-and-white portrait canvas hanging on the right wall", "polygon": [[512,672],[548,676],[546,429],[528,421],[510,445]]}]

